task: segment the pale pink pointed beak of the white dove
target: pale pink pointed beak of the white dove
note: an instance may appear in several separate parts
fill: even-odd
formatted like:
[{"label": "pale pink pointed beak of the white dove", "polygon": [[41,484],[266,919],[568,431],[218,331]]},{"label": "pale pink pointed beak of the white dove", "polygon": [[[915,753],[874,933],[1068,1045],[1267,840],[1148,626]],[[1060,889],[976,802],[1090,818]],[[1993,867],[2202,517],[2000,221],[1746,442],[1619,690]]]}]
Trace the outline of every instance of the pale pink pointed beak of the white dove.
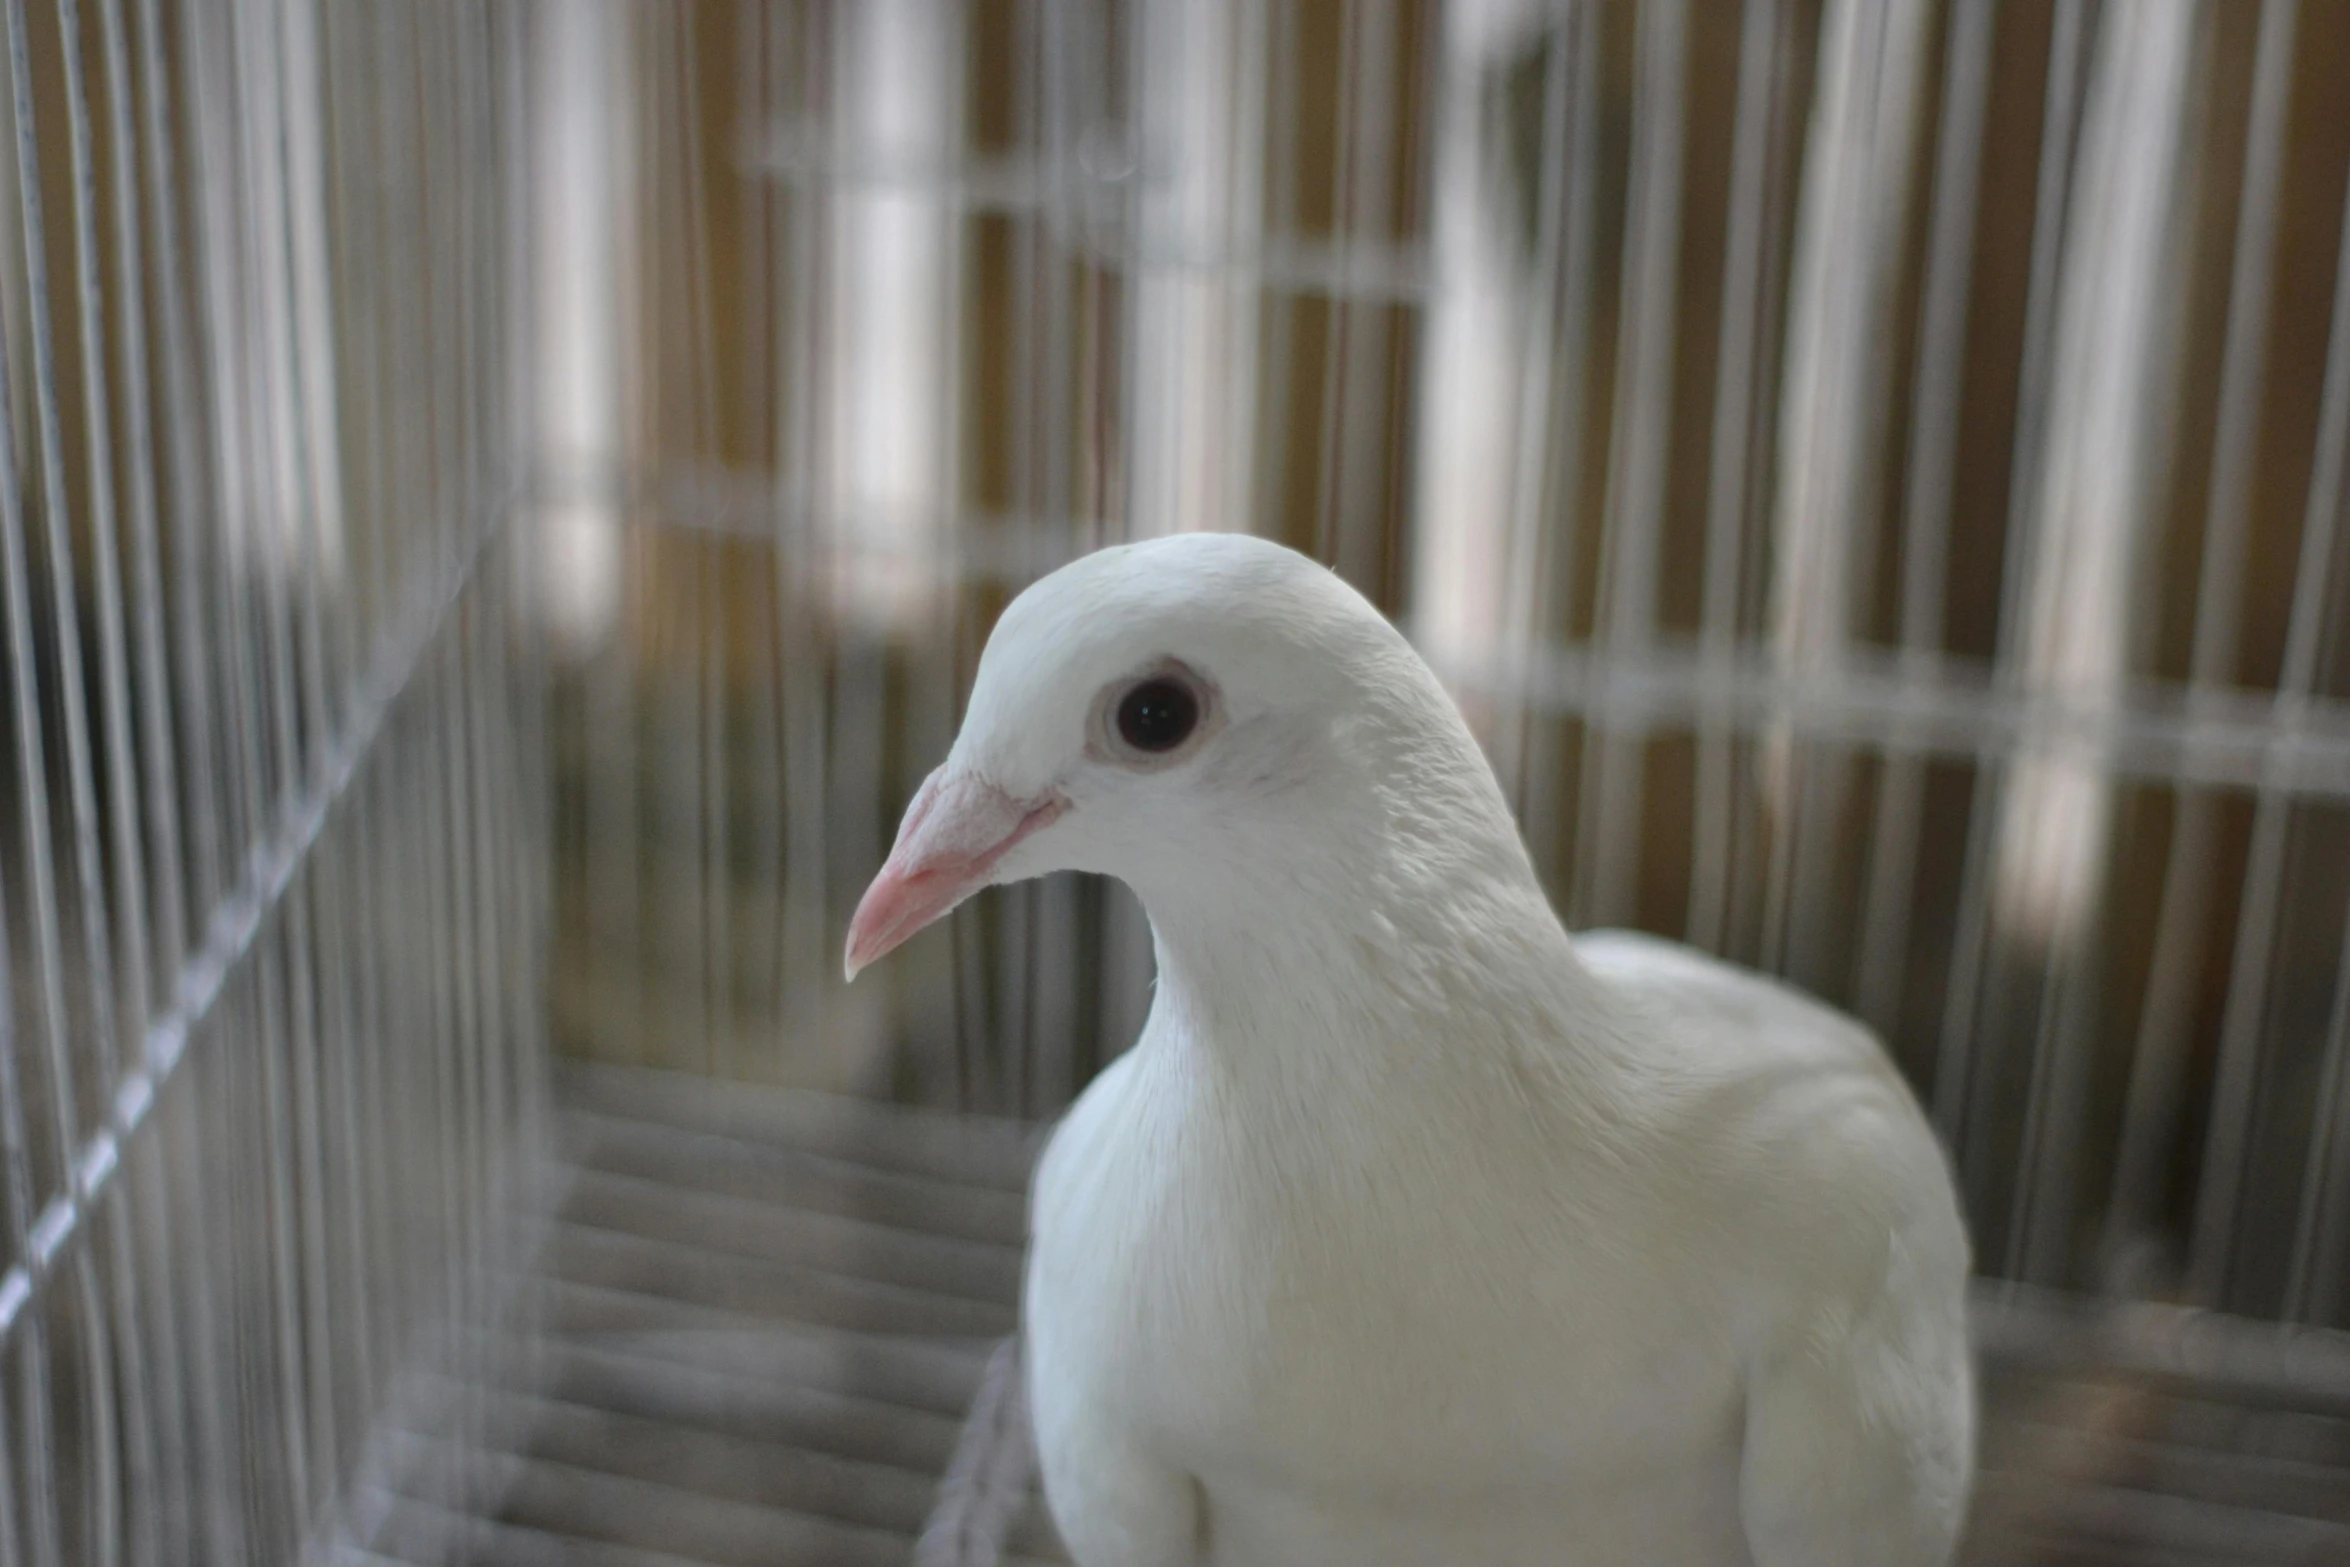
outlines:
[{"label": "pale pink pointed beak of the white dove", "polygon": [[905,808],[898,843],[848,921],[851,980],[942,919],[982,886],[1013,846],[1048,827],[1069,801],[1058,794],[1013,799],[971,773],[938,768]]}]

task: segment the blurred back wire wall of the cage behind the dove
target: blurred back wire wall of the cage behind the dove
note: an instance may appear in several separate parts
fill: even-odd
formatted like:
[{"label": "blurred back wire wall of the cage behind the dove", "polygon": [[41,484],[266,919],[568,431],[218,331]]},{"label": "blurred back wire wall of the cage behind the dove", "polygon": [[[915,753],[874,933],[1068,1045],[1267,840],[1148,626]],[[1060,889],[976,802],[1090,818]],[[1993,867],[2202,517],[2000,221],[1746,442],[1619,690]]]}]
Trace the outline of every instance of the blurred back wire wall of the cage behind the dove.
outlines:
[{"label": "blurred back wire wall of the cage behind the dove", "polygon": [[[2350,712],[2319,670],[2331,578],[2284,592],[2275,564],[2277,517],[2317,529],[2331,491],[2303,505],[2312,453],[2261,435],[2326,362],[2272,345],[2277,280],[2336,315],[2277,223],[2341,174],[2287,157],[2331,23],[1972,0],[893,16],[580,23],[630,103],[583,176],[623,193],[634,256],[592,315],[637,336],[609,374],[630,411],[566,491],[627,561],[557,691],[585,747],[562,785],[592,907],[562,949],[583,1001],[557,984],[576,1048],[1065,1102],[1144,975],[1114,890],[989,900],[877,998],[837,991],[825,947],[1001,592],[1102,538],[1250,526],[1408,620],[1574,916],[1685,930],[1885,1029],[1998,1271],[2089,1287],[2113,1247],[2197,1229],[2197,1299],[2310,1294],[2305,1262],[2284,1273],[2324,1231],[2317,1121],[2280,1125],[2305,1240],[2263,1229],[2240,1266],[2218,1226],[2272,1069],[2334,1081],[2331,959],[2291,980],[2324,996],[2291,1001],[2317,1045],[2258,1022],[2287,984],[2263,930],[2331,954],[2350,874],[2284,848],[2334,832]],[[2115,190],[2143,190],[2136,216]],[[2232,244],[2178,237],[2202,233]],[[2197,456],[2141,442],[2164,456],[2080,477],[2094,432],[2056,416],[2084,418],[2068,388],[2108,352],[2082,348],[2082,280],[2115,247],[2148,256],[2127,331],[2178,341],[2115,418]],[[2211,418],[2181,425],[2204,364]],[[750,409],[773,425],[724,435]],[[766,557],[773,590],[738,592]],[[2092,583],[2120,618],[2103,684],[2052,663]],[[2261,653],[2270,625],[2289,646]],[[2087,827],[2042,853],[2059,773]],[[797,1043],[745,1045],[771,1027]]]}]

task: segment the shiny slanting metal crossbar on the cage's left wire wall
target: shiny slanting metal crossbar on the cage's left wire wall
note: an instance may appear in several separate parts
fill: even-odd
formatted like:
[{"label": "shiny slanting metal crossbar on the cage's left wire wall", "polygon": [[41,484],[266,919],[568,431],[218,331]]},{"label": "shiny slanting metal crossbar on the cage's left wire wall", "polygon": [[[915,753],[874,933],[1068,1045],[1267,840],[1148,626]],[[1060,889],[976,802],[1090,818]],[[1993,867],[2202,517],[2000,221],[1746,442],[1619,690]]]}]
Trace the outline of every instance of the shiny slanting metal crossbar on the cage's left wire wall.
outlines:
[{"label": "shiny slanting metal crossbar on the cage's left wire wall", "polygon": [[42,1208],[26,1238],[26,1257],[0,1276],[0,1346],[14,1337],[24,1323],[24,1309],[42,1290],[49,1273],[66,1257],[66,1247],[85,1233],[85,1215],[113,1184],[122,1168],[125,1149],[139,1128],[148,1125],[157,1097],[169,1088],[188,1055],[188,1041],[202,1027],[214,1003],[228,984],[230,973],[254,949],[254,940],[268,923],[270,912],[294,883],[327,827],[334,803],[357,775],[360,759],[367,756],[392,702],[409,686],[409,677],[421,665],[449,613],[465,587],[475,580],[482,554],[503,533],[503,522],[515,512],[515,496],[494,503],[449,569],[435,592],[421,594],[409,613],[397,620],[376,651],[374,667],[360,684],[350,719],[343,733],[329,742],[320,756],[317,773],[296,794],[277,825],[263,834],[244,860],[244,879],[214,909],[204,944],[188,956],[172,987],[172,1008],[148,1024],[143,1041],[143,1067],[129,1071],[115,1088],[106,1125],[101,1125],[73,1156],[73,1189],[52,1198]]}]

